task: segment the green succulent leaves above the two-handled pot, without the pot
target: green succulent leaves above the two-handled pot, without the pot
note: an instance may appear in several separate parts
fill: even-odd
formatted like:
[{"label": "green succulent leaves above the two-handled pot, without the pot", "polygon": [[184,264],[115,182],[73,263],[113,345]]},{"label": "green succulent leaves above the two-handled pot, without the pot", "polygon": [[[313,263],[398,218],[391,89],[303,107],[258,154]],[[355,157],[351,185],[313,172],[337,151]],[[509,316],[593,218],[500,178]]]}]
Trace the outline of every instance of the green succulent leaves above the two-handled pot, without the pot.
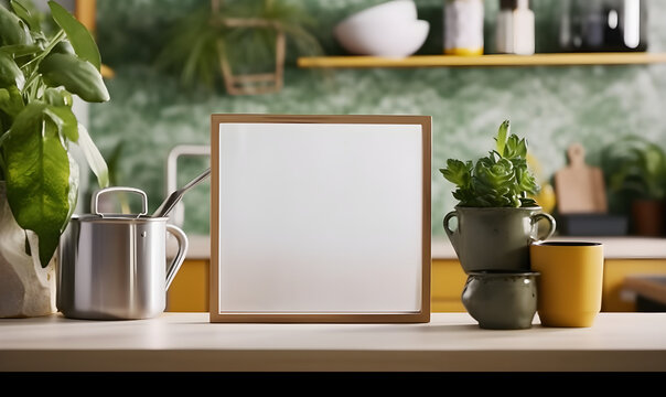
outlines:
[{"label": "green succulent leaves above the two-handled pot, without the pot", "polygon": [[476,163],[447,160],[442,175],[456,185],[453,197],[461,206],[527,207],[537,203],[530,195],[539,185],[527,165],[527,142],[509,135],[509,121],[500,126],[495,149]]}]

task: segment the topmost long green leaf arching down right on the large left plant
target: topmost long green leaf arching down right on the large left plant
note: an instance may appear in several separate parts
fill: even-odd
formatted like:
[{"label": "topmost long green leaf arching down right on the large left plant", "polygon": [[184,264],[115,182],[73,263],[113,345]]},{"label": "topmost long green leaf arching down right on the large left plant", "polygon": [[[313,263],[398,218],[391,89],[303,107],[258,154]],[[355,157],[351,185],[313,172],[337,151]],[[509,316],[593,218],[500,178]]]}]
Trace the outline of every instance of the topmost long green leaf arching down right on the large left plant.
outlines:
[{"label": "topmost long green leaf arching down right on the large left plant", "polygon": [[90,32],[61,4],[55,1],[49,1],[49,7],[51,8],[53,20],[67,34],[67,39],[69,39],[69,43],[72,43],[76,55],[84,61],[88,61],[99,71],[101,67],[101,57]]}]

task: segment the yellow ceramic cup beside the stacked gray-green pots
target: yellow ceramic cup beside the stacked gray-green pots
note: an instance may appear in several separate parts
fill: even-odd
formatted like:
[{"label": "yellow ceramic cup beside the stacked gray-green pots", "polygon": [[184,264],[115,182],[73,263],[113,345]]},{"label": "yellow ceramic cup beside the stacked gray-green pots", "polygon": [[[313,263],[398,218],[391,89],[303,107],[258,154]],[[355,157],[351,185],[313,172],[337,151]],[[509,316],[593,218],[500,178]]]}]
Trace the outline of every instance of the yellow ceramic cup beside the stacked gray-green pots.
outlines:
[{"label": "yellow ceramic cup beside the stacked gray-green pots", "polygon": [[601,311],[603,245],[540,242],[529,247],[544,326],[591,326]]}]

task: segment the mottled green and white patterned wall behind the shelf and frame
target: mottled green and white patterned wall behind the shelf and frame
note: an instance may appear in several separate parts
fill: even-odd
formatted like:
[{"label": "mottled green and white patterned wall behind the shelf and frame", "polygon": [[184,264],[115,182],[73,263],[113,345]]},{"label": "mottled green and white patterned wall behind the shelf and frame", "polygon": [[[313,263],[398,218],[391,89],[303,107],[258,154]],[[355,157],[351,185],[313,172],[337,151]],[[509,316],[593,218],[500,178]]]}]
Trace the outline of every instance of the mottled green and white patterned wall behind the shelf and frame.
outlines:
[{"label": "mottled green and white patterned wall behind the shelf and frame", "polygon": [[[207,144],[213,112],[391,114],[433,117],[432,233],[455,201],[438,169],[448,158],[476,158],[493,144],[496,128],[512,120],[549,178],[566,164],[565,150],[583,143],[595,163],[602,146],[635,133],[666,141],[666,65],[529,67],[299,69],[288,47],[284,88],[261,96],[228,96],[222,86],[183,89],[178,77],[159,72],[154,57],[169,26],[203,0],[97,0],[97,39],[103,61],[116,71],[111,100],[89,108],[89,130],[105,155],[122,144],[119,184],[146,190],[154,210],[164,197],[166,154],[176,144]],[[296,0],[293,0],[296,1]],[[300,1],[318,20],[313,31],[327,54],[342,51],[331,30],[347,13],[378,0]],[[417,0],[431,22],[421,53],[440,53],[443,1]],[[498,1],[485,1],[486,40]],[[534,0],[537,51],[554,51],[558,0]],[[665,51],[666,2],[649,6],[651,51]],[[490,46],[492,50],[492,45]],[[184,163],[179,184],[201,172],[207,159]],[[380,164],[377,170],[380,172]],[[208,232],[208,185],[185,198],[185,232]],[[204,204],[205,203],[205,204]]]}]

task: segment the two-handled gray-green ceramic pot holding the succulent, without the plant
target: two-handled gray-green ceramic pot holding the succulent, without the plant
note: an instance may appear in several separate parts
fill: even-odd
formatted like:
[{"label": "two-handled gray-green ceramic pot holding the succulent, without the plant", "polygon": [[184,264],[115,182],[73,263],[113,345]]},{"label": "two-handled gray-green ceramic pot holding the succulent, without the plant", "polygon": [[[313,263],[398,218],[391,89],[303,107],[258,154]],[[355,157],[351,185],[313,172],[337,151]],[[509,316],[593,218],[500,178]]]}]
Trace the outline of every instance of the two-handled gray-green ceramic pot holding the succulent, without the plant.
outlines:
[{"label": "two-handled gray-green ceramic pot holding the succulent, without the plant", "polygon": [[[451,228],[451,221],[458,227]],[[539,233],[539,221],[548,230]],[[552,236],[552,216],[534,207],[463,207],[456,206],[444,217],[444,230],[466,273],[481,270],[527,271],[529,245]],[[539,237],[539,234],[541,236]]]}]

